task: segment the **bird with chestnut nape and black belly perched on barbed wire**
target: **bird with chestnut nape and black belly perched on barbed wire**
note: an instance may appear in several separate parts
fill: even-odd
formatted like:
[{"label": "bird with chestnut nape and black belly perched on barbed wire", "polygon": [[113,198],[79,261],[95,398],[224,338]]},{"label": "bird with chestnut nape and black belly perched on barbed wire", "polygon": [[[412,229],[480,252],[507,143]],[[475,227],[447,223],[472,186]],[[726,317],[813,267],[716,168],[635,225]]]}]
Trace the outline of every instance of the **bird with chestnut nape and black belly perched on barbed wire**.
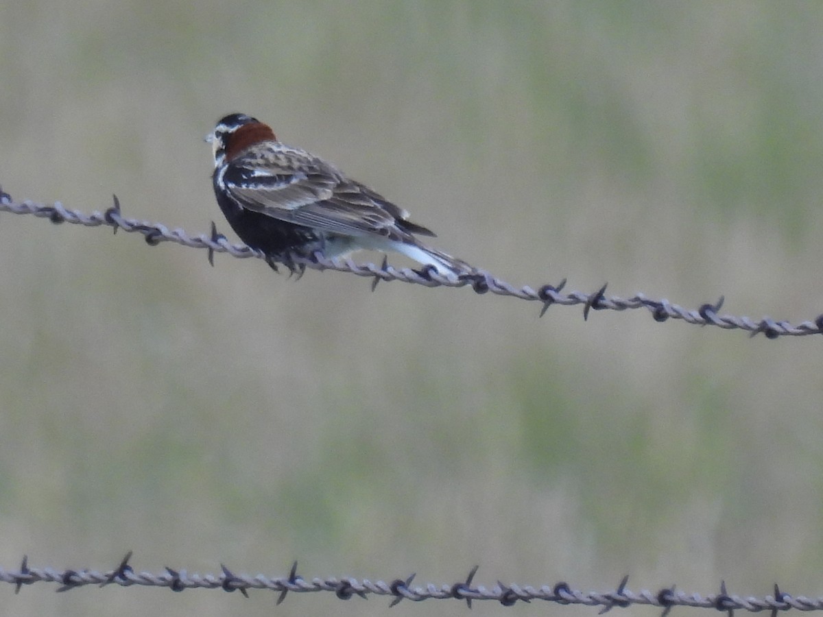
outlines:
[{"label": "bird with chestnut nape and black belly perched on barbed wire", "polygon": [[408,212],[309,152],[286,146],[272,128],[245,114],[222,118],[206,141],[214,150],[214,193],[240,239],[270,263],[290,254],[344,256],[360,249],[395,251],[459,276],[474,269],[430,248],[434,236]]}]

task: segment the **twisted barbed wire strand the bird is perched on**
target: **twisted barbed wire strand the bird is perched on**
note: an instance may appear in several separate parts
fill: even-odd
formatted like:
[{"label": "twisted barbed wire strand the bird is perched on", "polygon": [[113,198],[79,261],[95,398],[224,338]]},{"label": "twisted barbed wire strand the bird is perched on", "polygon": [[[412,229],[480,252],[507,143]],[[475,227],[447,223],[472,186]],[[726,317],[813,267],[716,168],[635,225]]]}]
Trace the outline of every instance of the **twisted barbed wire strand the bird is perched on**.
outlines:
[{"label": "twisted barbed wire strand the bird is perched on", "polygon": [[723,296],[717,302],[702,304],[696,309],[682,308],[677,304],[670,303],[667,299],[650,299],[644,294],[638,293],[631,298],[620,298],[618,296],[607,296],[606,287],[603,285],[593,293],[585,294],[580,291],[569,291],[561,293],[565,287],[566,280],[563,279],[556,285],[541,285],[534,289],[528,285],[515,287],[506,281],[492,276],[490,272],[475,268],[471,273],[462,275],[440,274],[434,268],[426,267],[421,270],[411,268],[396,268],[388,265],[386,258],[380,266],[374,263],[356,263],[349,258],[337,257],[328,259],[319,252],[311,256],[288,255],[281,260],[266,255],[254,248],[244,244],[230,244],[223,234],[217,233],[216,225],[212,221],[211,234],[189,235],[182,229],[169,230],[168,227],[160,223],[149,223],[145,220],[130,219],[122,216],[120,202],[114,196],[114,204],[105,212],[93,211],[90,215],[81,211],[71,210],[63,206],[60,202],[53,205],[24,201],[15,202],[7,193],[0,190],[0,211],[12,212],[13,214],[31,214],[38,218],[47,218],[53,223],[73,223],[86,227],[108,226],[117,230],[129,233],[143,234],[146,243],[151,246],[161,242],[174,242],[191,248],[205,248],[208,251],[208,261],[214,265],[214,253],[228,253],[232,257],[257,257],[263,259],[272,268],[277,270],[278,265],[286,267],[291,274],[303,276],[306,269],[312,270],[334,270],[341,272],[351,272],[357,276],[372,278],[372,290],[380,281],[402,281],[426,287],[465,287],[471,286],[477,294],[490,292],[495,295],[504,295],[513,298],[530,300],[542,305],[540,317],[548,308],[555,304],[565,306],[583,305],[584,319],[592,310],[610,309],[614,311],[624,311],[630,308],[647,308],[652,317],[657,322],[665,322],[668,319],[681,319],[687,323],[698,326],[716,326],[724,330],[740,329],[751,332],[751,336],[761,332],[770,339],[779,336],[806,336],[809,334],[823,334],[823,314],[807,320],[797,325],[788,321],[774,320],[764,317],[760,321],[754,321],[746,316],[738,317],[730,314],[718,314],[723,306]]}]

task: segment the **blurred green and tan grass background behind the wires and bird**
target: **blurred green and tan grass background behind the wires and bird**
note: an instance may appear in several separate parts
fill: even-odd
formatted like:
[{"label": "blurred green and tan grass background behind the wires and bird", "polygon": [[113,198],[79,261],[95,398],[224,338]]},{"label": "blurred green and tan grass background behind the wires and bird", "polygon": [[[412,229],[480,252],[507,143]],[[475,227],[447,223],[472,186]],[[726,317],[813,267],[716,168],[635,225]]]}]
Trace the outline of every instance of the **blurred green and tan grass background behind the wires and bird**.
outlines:
[{"label": "blurred green and tan grass background behind the wires and bird", "polygon": [[[0,182],[234,239],[202,136],[243,111],[507,281],[800,322],[823,307],[821,30],[814,2],[2,2]],[[823,593],[814,338],[538,321],[11,215],[0,262],[3,568],[133,549],[152,571]],[[13,591],[15,615],[275,601]],[[593,615],[518,606],[569,610]]]}]

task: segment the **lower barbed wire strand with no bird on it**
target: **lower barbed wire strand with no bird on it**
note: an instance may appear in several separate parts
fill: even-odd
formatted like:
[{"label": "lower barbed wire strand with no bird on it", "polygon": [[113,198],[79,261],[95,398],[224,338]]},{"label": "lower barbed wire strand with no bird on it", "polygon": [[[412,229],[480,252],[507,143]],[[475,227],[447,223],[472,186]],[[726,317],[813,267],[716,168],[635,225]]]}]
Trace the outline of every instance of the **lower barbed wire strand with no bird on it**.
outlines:
[{"label": "lower barbed wire strand with no bird on it", "polygon": [[665,617],[674,606],[690,606],[698,609],[722,610],[732,617],[735,610],[746,610],[757,613],[769,610],[772,617],[783,610],[823,610],[823,598],[807,598],[806,596],[791,596],[780,591],[775,583],[774,595],[737,596],[728,593],[726,583],[720,583],[718,593],[701,596],[699,593],[678,591],[675,586],[664,587],[659,591],[631,591],[628,587],[628,577],[624,577],[613,591],[579,591],[570,587],[566,582],[557,582],[554,585],[532,587],[497,581],[493,587],[475,585],[473,583],[477,566],[472,568],[467,578],[453,583],[436,585],[427,583],[424,587],[412,586],[415,574],[406,578],[395,578],[392,582],[382,580],[371,582],[368,579],[351,577],[343,578],[304,578],[297,573],[297,562],[291,565],[287,576],[267,577],[263,574],[249,576],[235,574],[221,564],[220,574],[189,574],[184,569],[166,567],[163,572],[135,572],[128,563],[132,559],[132,551],[120,561],[112,570],[99,572],[91,569],[56,569],[34,568],[28,564],[28,558],[23,557],[18,570],[0,568],[0,582],[15,586],[18,593],[24,585],[34,585],[40,582],[58,583],[57,591],[69,591],[77,587],[96,585],[105,587],[119,585],[131,587],[165,587],[171,591],[185,591],[187,589],[218,589],[222,591],[239,591],[249,597],[249,590],[276,591],[277,604],[286,599],[289,591],[295,593],[312,593],[331,591],[339,600],[351,600],[360,596],[367,600],[369,596],[388,596],[392,598],[390,606],[400,601],[424,600],[461,600],[466,601],[469,608],[472,601],[493,600],[504,606],[513,606],[518,602],[529,603],[533,600],[554,602],[558,605],[585,605],[599,607],[599,615],[613,608],[628,608],[631,605],[654,606],[663,609],[661,617]]}]

